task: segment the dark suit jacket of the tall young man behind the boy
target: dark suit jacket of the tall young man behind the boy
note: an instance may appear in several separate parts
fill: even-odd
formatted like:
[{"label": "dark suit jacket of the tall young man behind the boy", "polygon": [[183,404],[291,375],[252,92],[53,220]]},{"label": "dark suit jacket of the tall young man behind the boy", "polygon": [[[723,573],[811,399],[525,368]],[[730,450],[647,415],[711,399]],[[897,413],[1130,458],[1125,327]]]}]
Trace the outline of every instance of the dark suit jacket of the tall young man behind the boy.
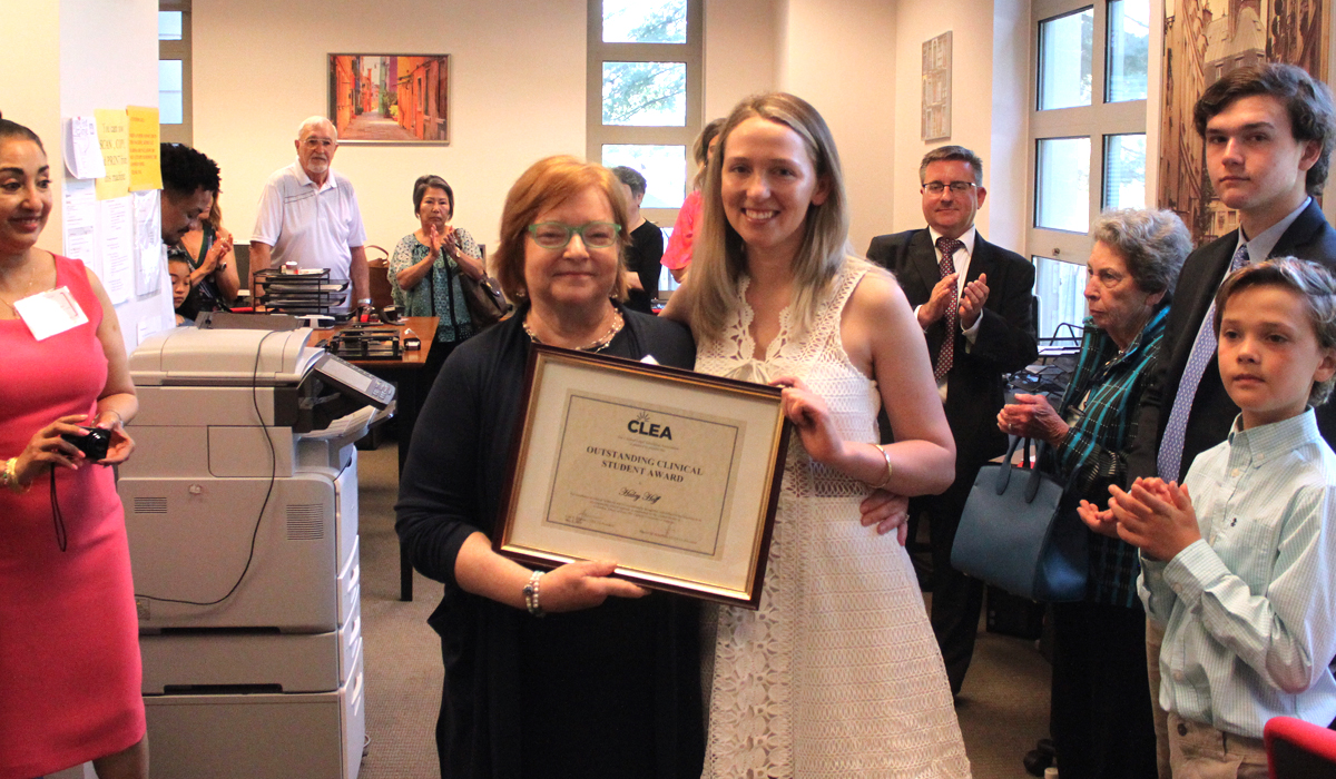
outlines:
[{"label": "dark suit jacket of the tall young man behind the boy", "polygon": [[[1169,410],[1173,409],[1173,400],[1178,394],[1178,382],[1188,365],[1192,343],[1197,338],[1197,330],[1206,317],[1210,301],[1220,289],[1220,282],[1225,278],[1225,271],[1229,270],[1229,261],[1237,246],[1236,230],[1193,251],[1182,265],[1169,318],[1165,321],[1160,363],[1141,396],[1134,430],[1136,442],[1128,450],[1128,473],[1132,478],[1156,474],[1160,441],[1169,421]],[[1336,230],[1327,223],[1317,203],[1311,202],[1280,237],[1271,255],[1312,259],[1336,271]],[[1238,406],[1225,393],[1225,385],[1220,381],[1220,365],[1212,355],[1197,386],[1192,413],[1188,416],[1180,481],[1186,476],[1197,454],[1229,436],[1229,426],[1233,425],[1236,416]],[[1325,404],[1317,409],[1317,426],[1328,444],[1336,442],[1336,406]]]}]

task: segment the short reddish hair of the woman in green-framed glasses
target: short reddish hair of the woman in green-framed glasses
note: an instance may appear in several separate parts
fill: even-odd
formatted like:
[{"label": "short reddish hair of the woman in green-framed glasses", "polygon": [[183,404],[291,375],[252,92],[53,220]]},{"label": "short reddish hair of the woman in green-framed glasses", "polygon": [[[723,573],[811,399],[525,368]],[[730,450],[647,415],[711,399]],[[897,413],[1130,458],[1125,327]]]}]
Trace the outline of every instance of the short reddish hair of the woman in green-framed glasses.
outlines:
[{"label": "short reddish hair of the woman in green-framed glasses", "polygon": [[621,182],[612,171],[573,156],[549,156],[529,166],[505,196],[501,211],[501,242],[493,265],[501,290],[512,301],[528,298],[524,281],[525,235],[538,214],[554,208],[588,188],[596,188],[612,206],[612,220],[621,224],[617,234],[617,281],[609,293],[617,301],[627,299],[625,247],[631,243],[627,224],[627,200]]}]

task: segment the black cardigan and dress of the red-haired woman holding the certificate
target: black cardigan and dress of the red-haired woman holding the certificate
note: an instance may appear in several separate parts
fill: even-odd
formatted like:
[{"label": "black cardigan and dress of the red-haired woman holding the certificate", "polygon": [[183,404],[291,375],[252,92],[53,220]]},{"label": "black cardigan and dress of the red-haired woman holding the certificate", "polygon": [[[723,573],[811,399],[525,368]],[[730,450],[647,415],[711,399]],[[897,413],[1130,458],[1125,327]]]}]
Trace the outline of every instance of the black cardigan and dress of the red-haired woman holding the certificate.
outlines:
[{"label": "black cardigan and dress of the red-haired woman holding the certificate", "polygon": [[[608,718],[607,712],[617,710],[621,696],[637,711],[593,724],[615,727],[635,718],[635,730],[645,734],[645,742],[625,744],[623,758],[635,763],[628,768],[663,779],[695,779],[704,755],[695,601],[653,593],[640,600],[609,599],[595,609],[536,620],[524,611],[464,592],[454,580],[454,563],[464,540],[474,532],[490,536],[500,512],[514,430],[522,418],[520,404],[530,343],[521,327],[524,314],[521,310],[465,341],[449,357],[418,416],[399,484],[395,506],[399,540],[414,568],[445,584],[441,604],[429,619],[441,636],[445,661],[437,723],[441,775],[452,779],[562,775],[562,766],[546,762],[546,752],[560,752],[566,742],[574,742],[572,748],[584,755],[603,759],[612,739],[588,732],[588,718]],[[625,327],[608,354],[632,358],[652,354],[663,365],[692,367],[695,346],[685,327],[635,311],[623,314]],[[632,647],[628,641],[640,643]],[[564,679],[587,673],[572,663],[601,647],[641,652],[640,667],[647,672],[637,671],[635,679],[644,677],[644,684],[633,685],[641,689],[609,689],[600,679]],[[542,685],[536,685],[536,680]],[[600,687],[600,700],[607,707],[593,708],[603,714],[584,711],[587,707],[578,703],[556,711],[533,711],[550,707],[526,703],[534,695],[545,695],[534,692],[536,687],[562,684],[574,692],[585,685]],[[647,700],[653,711],[639,710]],[[550,747],[552,739],[558,739],[557,748],[534,746]],[[616,754],[608,756],[605,770],[621,771],[617,759]],[[536,768],[538,760],[541,770]],[[652,772],[644,774],[648,764]],[[581,758],[572,775],[592,776],[588,768],[593,766]]]}]

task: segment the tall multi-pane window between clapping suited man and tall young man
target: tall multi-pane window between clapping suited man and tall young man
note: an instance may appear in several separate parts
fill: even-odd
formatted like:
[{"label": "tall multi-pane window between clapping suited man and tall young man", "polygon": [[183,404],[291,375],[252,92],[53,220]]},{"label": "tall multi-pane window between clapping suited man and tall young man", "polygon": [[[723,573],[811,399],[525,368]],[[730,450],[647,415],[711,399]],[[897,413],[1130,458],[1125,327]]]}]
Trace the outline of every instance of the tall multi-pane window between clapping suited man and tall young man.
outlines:
[{"label": "tall multi-pane window between clapping suited man and tall young man", "polygon": [[1039,335],[1085,317],[1090,223],[1146,204],[1150,0],[1034,0],[1027,245]]}]

